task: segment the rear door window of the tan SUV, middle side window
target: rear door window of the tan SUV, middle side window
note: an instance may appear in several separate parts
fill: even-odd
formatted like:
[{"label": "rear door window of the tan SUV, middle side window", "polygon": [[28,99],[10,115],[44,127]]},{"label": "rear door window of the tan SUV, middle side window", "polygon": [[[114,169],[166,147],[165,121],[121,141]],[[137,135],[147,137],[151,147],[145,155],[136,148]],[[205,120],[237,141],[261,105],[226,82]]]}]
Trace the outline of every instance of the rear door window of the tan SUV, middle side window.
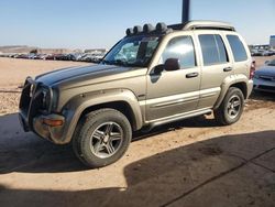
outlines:
[{"label": "rear door window of the tan SUV, middle side window", "polygon": [[218,34],[201,34],[199,42],[202,51],[204,65],[228,63],[224,43]]}]

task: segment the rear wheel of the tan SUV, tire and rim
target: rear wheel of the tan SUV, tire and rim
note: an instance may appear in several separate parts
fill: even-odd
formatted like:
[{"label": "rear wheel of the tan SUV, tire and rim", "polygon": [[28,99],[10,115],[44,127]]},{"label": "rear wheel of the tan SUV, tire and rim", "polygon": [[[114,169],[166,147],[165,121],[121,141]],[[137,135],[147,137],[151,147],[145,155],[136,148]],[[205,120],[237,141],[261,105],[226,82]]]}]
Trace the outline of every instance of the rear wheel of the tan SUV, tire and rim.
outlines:
[{"label": "rear wheel of the tan SUV, tire and rim", "polygon": [[244,97],[239,88],[231,87],[228,90],[221,106],[213,111],[218,123],[230,126],[235,123],[242,116]]}]

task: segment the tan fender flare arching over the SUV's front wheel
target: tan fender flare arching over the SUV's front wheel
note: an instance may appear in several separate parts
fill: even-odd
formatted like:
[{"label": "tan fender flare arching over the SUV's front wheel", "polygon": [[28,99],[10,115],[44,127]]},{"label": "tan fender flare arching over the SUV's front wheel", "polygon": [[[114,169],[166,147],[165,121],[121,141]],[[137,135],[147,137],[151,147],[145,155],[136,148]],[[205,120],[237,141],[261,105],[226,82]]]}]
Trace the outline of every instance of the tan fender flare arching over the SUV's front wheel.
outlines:
[{"label": "tan fender flare arching over the SUV's front wheel", "polygon": [[[132,126],[133,131],[143,126],[141,107],[135,95],[128,89],[114,89],[100,92],[91,92],[75,97],[67,103],[67,127],[64,134],[64,143],[70,142],[75,129],[81,118],[100,108],[111,108],[122,112]],[[66,110],[66,107],[65,107]]]}]

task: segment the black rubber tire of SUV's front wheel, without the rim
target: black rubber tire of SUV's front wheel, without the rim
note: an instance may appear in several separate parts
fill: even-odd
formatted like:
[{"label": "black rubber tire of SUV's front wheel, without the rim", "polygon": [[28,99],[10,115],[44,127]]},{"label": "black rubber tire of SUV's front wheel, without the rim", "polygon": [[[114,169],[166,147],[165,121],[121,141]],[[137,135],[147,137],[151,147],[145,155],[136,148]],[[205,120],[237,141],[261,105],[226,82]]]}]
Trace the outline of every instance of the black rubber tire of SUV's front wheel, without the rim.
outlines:
[{"label": "black rubber tire of SUV's front wheel, without the rim", "polygon": [[[94,131],[105,122],[116,122],[123,131],[122,143],[119,150],[110,157],[98,157],[90,149],[90,138]],[[91,168],[102,167],[114,163],[127,152],[132,140],[132,128],[128,118],[114,109],[99,109],[87,113],[78,123],[74,137],[73,149],[76,156]]]}]

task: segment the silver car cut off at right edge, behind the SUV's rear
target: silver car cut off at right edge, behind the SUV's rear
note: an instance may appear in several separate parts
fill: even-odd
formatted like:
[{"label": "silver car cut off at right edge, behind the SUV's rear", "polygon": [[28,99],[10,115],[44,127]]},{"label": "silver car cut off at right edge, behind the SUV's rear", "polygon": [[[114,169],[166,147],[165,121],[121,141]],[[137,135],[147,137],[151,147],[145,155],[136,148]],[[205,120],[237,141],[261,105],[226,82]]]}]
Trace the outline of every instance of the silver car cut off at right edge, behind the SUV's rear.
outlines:
[{"label": "silver car cut off at right edge, behind the SUV's rear", "polygon": [[275,92],[275,59],[266,62],[254,73],[254,90]]}]

